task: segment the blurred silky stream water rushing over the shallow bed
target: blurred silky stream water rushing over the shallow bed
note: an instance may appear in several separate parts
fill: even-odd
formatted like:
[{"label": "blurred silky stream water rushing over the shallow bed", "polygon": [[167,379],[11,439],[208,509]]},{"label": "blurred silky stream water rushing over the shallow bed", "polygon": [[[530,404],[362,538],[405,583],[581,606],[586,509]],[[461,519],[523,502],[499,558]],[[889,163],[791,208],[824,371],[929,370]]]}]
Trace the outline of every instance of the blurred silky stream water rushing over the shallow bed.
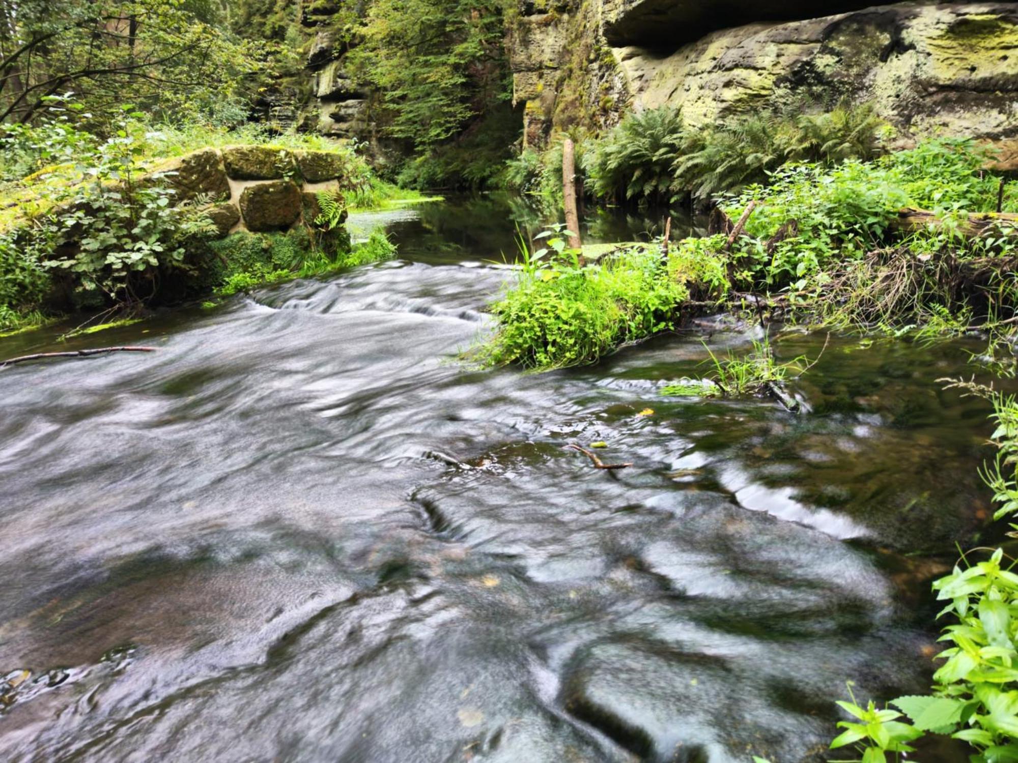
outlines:
[{"label": "blurred silky stream water rushing over the shallow bed", "polygon": [[794,763],[846,680],[928,686],[987,521],[986,406],[936,382],[974,345],[832,339],[801,416],[661,396],[754,336],[710,321],[470,370],[505,209],[388,221],[397,261],[0,341],[158,348],[0,371],[0,759]]}]

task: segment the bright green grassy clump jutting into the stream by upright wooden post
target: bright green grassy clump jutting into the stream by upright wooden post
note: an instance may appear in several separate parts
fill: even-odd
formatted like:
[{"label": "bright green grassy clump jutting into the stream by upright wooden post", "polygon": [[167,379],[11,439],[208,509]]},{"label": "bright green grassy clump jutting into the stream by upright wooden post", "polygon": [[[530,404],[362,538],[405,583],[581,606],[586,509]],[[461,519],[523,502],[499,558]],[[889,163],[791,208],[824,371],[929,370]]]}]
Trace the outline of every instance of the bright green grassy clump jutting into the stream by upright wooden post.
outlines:
[{"label": "bright green grassy clump jutting into the stream by upright wooden post", "polygon": [[474,359],[540,370],[593,363],[674,326],[689,292],[669,277],[660,254],[633,247],[582,266],[563,233],[544,234],[547,248],[536,252],[520,242],[519,275],[492,305],[499,327]]}]

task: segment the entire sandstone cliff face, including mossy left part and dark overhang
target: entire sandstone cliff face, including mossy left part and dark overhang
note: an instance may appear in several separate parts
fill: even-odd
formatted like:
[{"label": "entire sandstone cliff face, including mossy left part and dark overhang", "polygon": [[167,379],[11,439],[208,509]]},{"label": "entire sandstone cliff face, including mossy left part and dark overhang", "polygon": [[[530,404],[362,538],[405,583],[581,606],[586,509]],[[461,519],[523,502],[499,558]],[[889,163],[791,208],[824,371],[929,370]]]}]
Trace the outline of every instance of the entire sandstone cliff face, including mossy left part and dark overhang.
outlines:
[{"label": "entire sandstone cliff face, including mossy left part and dark overhang", "polygon": [[509,38],[515,99],[526,103],[524,143],[540,146],[554,131],[603,128],[628,109],[663,104],[704,124],[841,99],[872,102],[903,142],[934,133],[1018,137],[1018,4],[863,5],[524,3]]}]

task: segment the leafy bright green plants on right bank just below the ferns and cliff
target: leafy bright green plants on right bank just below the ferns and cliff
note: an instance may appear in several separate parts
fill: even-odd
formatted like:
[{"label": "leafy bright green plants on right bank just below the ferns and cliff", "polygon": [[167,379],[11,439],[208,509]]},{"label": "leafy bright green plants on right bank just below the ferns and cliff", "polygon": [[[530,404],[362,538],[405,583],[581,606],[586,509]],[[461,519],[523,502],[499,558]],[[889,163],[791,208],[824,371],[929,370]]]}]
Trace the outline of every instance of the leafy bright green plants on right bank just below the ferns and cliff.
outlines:
[{"label": "leafy bright green plants on right bank just below the ferns and cliff", "polygon": [[[833,263],[858,261],[893,243],[892,224],[903,208],[943,212],[948,219],[962,208],[995,210],[999,180],[979,171],[984,161],[973,141],[939,139],[872,163],[784,167],[770,185],[749,186],[722,203],[732,218],[750,201],[758,204],[745,229],[750,238],[740,239],[739,280],[797,291],[823,287]],[[914,250],[923,241],[928,249],[961,245],[950,228],[900,243]]]}]

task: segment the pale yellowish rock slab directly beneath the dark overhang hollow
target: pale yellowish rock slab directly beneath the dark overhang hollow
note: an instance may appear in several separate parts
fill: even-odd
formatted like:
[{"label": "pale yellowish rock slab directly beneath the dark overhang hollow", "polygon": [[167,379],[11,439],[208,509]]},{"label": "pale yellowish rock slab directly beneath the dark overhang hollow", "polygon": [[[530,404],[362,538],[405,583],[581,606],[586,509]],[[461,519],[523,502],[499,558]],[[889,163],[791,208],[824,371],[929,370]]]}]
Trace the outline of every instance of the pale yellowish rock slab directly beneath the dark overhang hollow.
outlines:
[{"label": "pale yellowish rock slab directly beneath the dark overhang hollow", "polygon": [[1018,135],[1018,5],[903,4],[618,51],[637,108],[702,124],[765,106],[868,101],[904,136]]}]

